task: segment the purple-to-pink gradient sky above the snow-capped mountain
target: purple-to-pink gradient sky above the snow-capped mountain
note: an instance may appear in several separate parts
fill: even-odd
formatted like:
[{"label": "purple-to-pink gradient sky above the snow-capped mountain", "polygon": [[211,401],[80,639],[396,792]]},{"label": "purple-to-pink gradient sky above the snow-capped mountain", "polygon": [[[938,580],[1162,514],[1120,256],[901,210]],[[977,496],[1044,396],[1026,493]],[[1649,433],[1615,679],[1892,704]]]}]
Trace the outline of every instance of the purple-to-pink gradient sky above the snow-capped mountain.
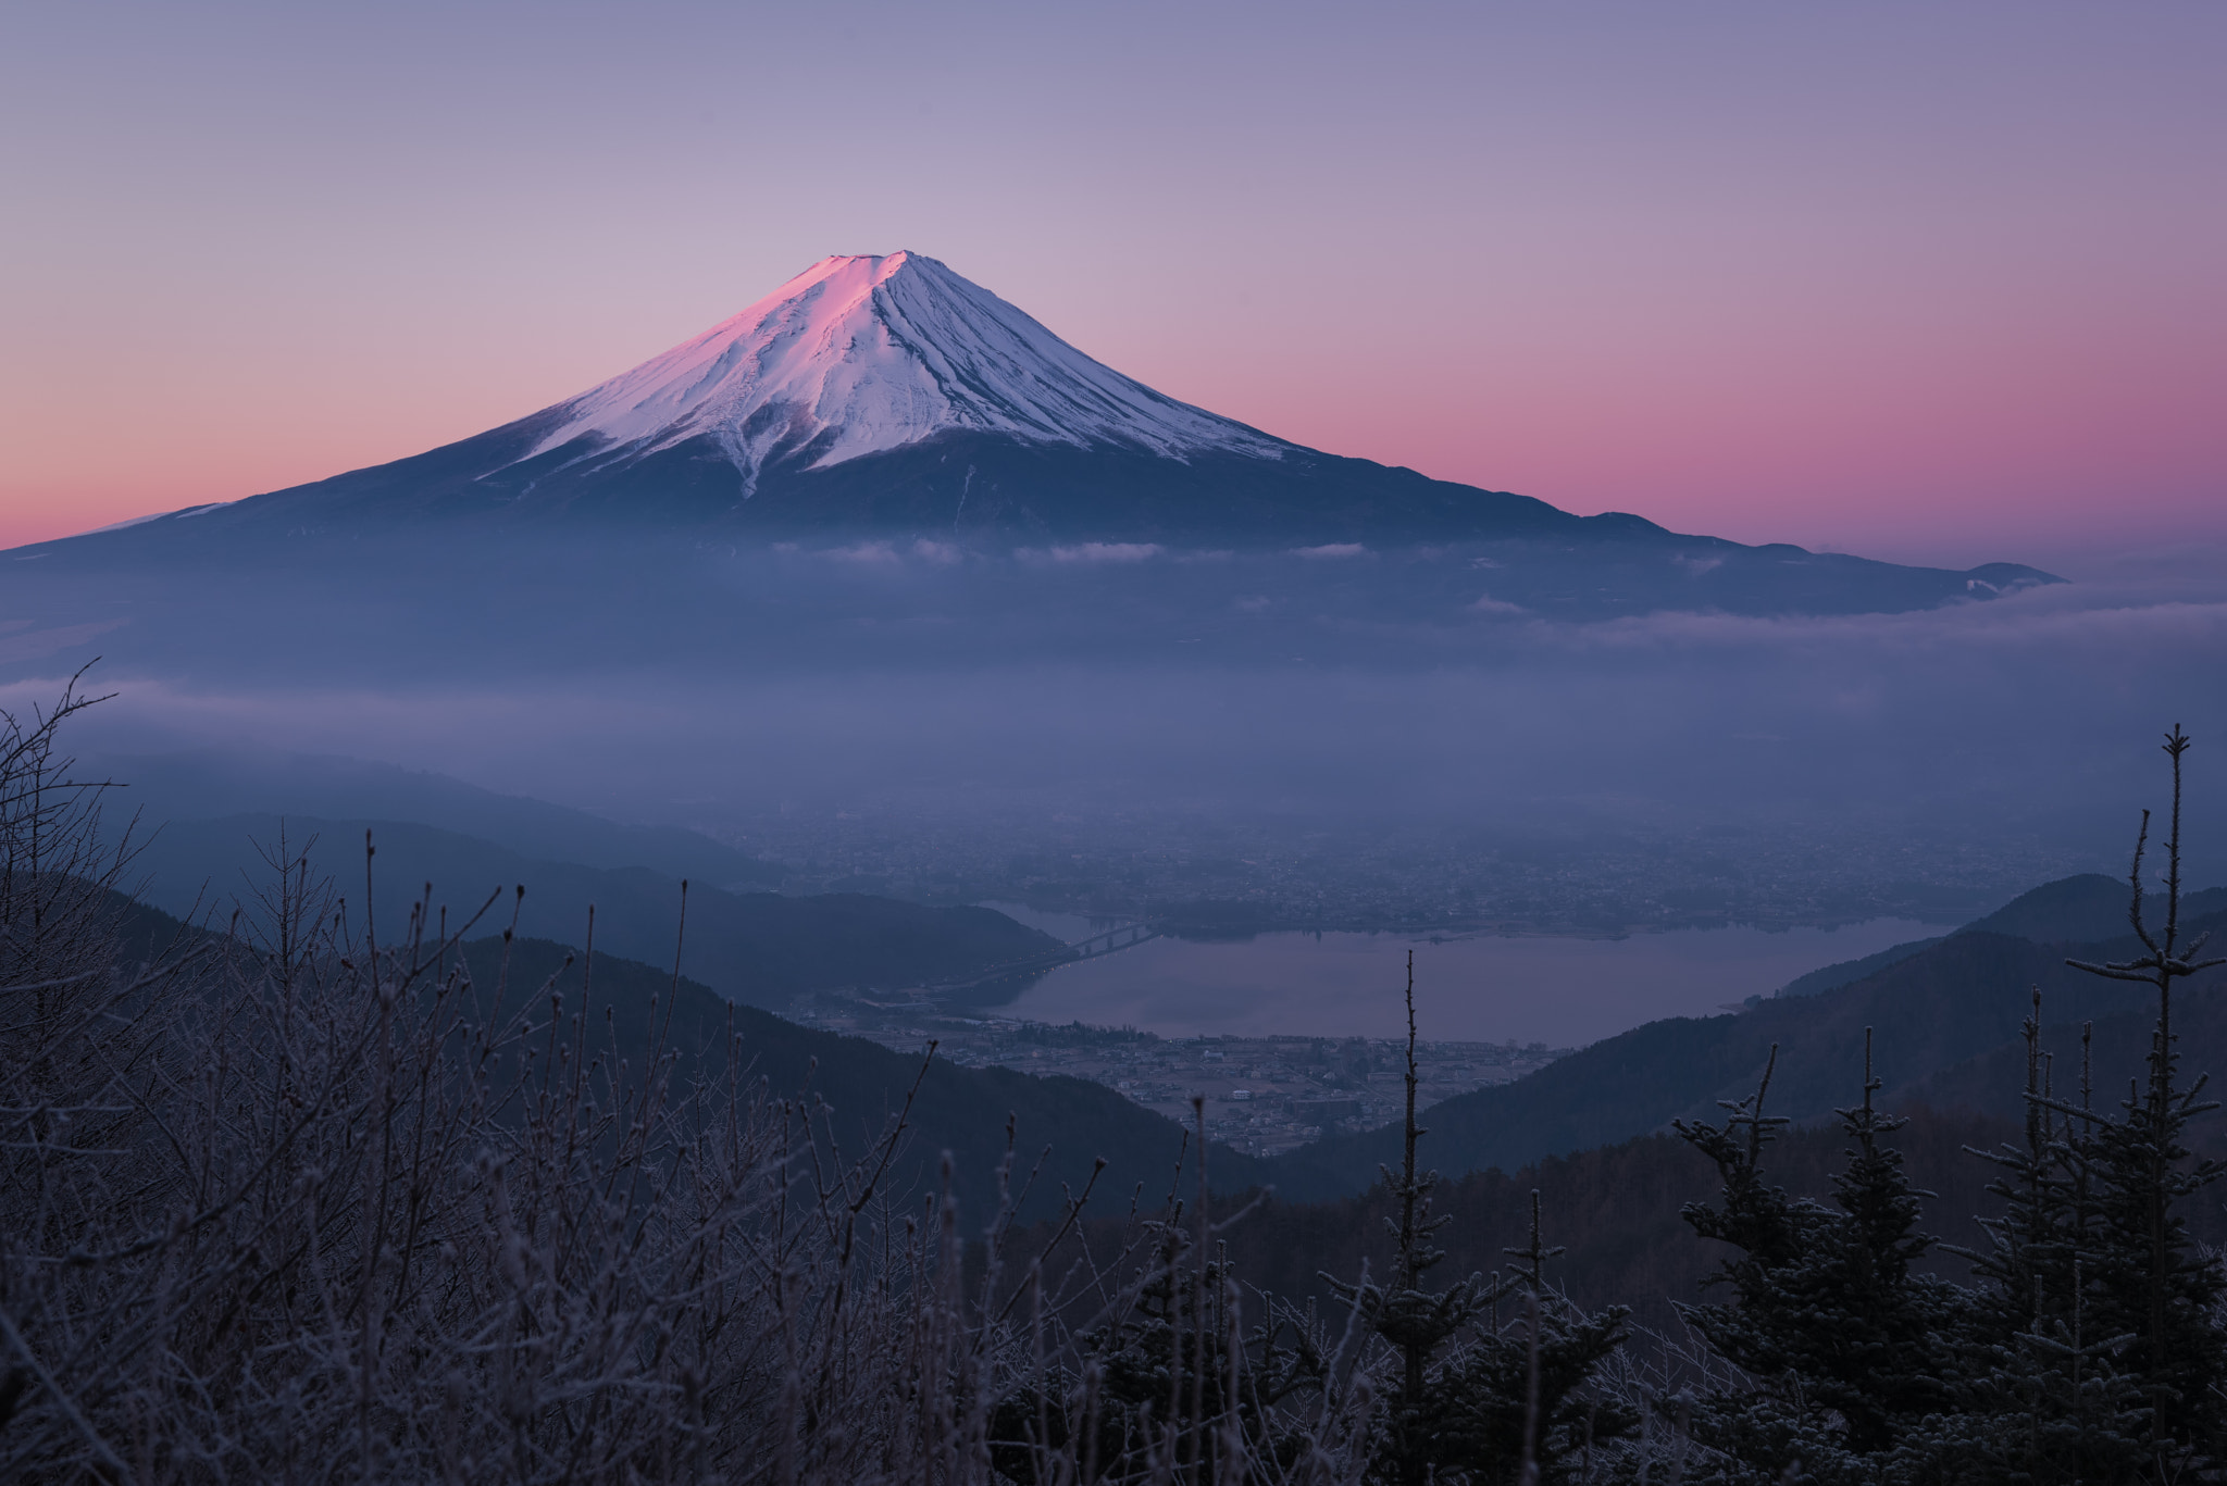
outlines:
[{"label": "purple-to-pink gradient sky above the snow-capped mountain", "polygon": [[18,4],[0,544],[913,247],[1318,448],[1904,559],[2227,530],[2227,7]]}]

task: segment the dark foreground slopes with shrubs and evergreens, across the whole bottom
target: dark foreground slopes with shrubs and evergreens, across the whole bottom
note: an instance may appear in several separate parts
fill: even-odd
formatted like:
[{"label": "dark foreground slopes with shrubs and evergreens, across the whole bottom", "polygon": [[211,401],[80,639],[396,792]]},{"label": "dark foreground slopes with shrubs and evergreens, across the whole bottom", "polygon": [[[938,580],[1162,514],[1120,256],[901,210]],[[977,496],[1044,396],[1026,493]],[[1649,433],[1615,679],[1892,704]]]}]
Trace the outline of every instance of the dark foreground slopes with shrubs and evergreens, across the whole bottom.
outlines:
[{"label": "dark foreground slopes with shrubs and evergreens, across the whole bottom", "polygon": [[[2022,1067],[1989,1045],[2002,982],[2062,947],[1975,927],[1688,1023],[1733,1034],[1681,1047],[1719,1085],[1739,1023],[1799,1040],[1773,1103],[1733,1087],[1677,1143],[1439,1183],[1410,1114],[1381,1183],[1245,1214],[1203,1163],[1225,1192],[1263,1163],[1185,1172],[1111,1092],[909,1069],[559,942],[423,916],[381,942],[310,862],[276,856],[223,931],[167,920],[114,891],[91,795],[49,786],[51,726],[0,751],[9,1479],[2131,1486],[2227,1459],[2227,1170],[2194,1159],[2189,1067],[2227,998],[2185,985],[2227,960],[2178,900],[2111,971],[2154,980],[2125,1101],[1888,1112],[1888,1067],[2064,1089],[2031,1023]],[[2102,1014],[2082,1085],[2116,1092],[2142,1000],[2053,994]],[[1626,1114],[1693,1094],[1635,1047]],[[1788,1130],[1817,1101],[1837,1130]],[[1998,1147],[1986,1192],[1966,1143]],[[1100,1167],[1114,1216],[1062,1230]],[[1038,1225],[993,1221],[1016,1208]],[[1494,1277],[1441,1270],[1492,1243]],[[1630,1306],[1686,1330],[1648,1343]]]}]

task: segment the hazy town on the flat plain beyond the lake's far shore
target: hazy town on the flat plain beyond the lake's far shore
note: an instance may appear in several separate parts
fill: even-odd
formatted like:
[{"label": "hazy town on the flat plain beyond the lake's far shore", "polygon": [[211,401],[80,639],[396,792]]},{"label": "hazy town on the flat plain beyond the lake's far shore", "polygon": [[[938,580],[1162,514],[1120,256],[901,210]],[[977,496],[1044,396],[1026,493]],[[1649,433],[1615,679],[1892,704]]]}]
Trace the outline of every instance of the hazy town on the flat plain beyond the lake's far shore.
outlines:
[{"label": "hazy town on the flat plain beyond the lake's far shore", "polygon": [[1151,809],[889,806],[771,815],[737,844],[782,891],[915,902],[1029,902],[1087,918],[1214,929],[1635,929],[1960,922],[2084,860],[2038,840],[1880,829],[1619,827],[1557,835],[1481,827],[1307,829]]}]

